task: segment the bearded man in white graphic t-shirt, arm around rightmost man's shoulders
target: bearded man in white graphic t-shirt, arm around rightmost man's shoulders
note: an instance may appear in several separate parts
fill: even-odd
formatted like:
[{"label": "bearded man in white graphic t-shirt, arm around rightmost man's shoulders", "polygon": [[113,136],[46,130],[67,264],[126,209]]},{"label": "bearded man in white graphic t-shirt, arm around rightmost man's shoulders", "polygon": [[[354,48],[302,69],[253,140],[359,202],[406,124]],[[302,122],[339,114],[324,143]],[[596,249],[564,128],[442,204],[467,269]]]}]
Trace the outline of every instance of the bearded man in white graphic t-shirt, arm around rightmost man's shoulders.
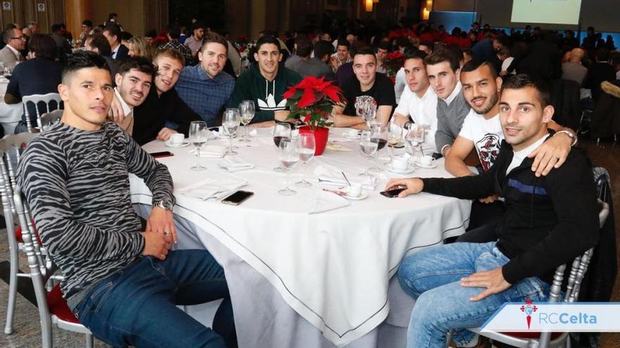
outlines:
[{"label": "bearded man in white graphic t-shirt, arm around rightmost man's shoulders", "polygon": [[[473,149],[476,149],[481,163],[481,172],[487,172],[495,163],[504,140],[502,124],[500,124],[500,89],[502,78],[488,60],[473,59],[461,68],[461,84],[463,95],[471,110],[465,117],[463,127],[452,144],[450,154],[445,160],[445,169],[454,176],[473,174],[465,164],[465,160]],[[559,124],[550,121],[547,126],[556,133],[540,148],[533,150],[528,157],[536,157],[533,161],[535,176],[547,175],[554,167],[560,167],[566,160],[574,145],[576,136],[570,129],[562,129]],[[473,202],[468,230],[487,224],[494,224],[504,216],[504,202],[497,200],[497,195],[481,198]],[[477,235],[472,231],[457,239],[459,242],[485,243],[496,240],[492,225],[487,229],[478,229]],[[488,233],[485,233],[488,232]]]}]

